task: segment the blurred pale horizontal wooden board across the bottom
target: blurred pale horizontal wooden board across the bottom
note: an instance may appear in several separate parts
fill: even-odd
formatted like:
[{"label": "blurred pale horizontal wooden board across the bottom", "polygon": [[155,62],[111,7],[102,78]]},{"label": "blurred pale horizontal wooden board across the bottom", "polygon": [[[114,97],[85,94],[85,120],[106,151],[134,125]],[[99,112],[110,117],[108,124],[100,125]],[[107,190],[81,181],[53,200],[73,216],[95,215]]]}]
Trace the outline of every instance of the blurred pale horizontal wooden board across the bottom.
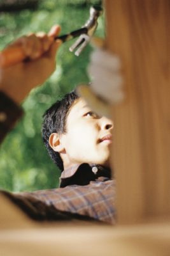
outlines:
[{"label": "blurred pale horizontal wooden board across the bottom", "polygon": [[170,222],[118,228],[41,227],[1,231],[0,249],[2,256],[169,256],[169,237]]}]

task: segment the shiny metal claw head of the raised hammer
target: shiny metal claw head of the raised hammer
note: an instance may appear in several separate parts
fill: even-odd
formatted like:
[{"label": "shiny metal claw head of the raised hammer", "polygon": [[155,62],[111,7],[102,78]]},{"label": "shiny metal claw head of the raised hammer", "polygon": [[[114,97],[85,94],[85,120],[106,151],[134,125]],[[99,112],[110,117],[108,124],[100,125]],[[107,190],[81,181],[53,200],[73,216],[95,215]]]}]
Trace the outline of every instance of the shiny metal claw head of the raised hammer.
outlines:
[{"label": "shiny metal claw head of the raised hammer", "polygon": [[[94,35],[96,28],[97,28],[97,19],[100,15],[102,15],[103,9],[99,6],[92,6],[90,7],[90,17],[89,20],[85,23],[83,28],[87,28],[87,33],[84,33],[79,36],[78,40],[74,42],[74,44],[69,48],[69,51],[73,52],[75,49],[75,55],[79,56],[81,51],[86,47],[89,43],[90,38]],[[79,48],[78,48],[79,47]]]}]

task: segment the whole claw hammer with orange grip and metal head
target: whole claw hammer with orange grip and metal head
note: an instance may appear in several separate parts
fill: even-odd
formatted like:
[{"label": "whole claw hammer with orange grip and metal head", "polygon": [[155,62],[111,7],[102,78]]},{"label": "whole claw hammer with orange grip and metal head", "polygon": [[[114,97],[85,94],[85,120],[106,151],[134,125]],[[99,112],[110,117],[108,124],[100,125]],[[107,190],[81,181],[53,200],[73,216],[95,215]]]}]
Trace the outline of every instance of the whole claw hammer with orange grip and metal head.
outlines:
[{"label": "whole claw hammer with orange grip and metal head", "polygon": [[[99,6],[90,7],[90,17],[85,23],[85,25],[72,31],[67,35],[57,36],[54,40],[60,39],[62,42],[67,42],[77,36],[80,36],[76,42],[69,48],[69,51],[73,52],[75,49],[75,55],[79,56],[81,51],[85,48],[85,46],[89,43],[90,38],[94,35],[94,32],[97,28],[97,19],[103,13],[103,10]],[[78,48],[79,47],[79,48]],[[13,47],[11,49],[4,49],[0,52],[0,67],[10,67],[11,65],[15,65],[20,63],[21,61],[27,60],[24,52],[21,47]]]}]

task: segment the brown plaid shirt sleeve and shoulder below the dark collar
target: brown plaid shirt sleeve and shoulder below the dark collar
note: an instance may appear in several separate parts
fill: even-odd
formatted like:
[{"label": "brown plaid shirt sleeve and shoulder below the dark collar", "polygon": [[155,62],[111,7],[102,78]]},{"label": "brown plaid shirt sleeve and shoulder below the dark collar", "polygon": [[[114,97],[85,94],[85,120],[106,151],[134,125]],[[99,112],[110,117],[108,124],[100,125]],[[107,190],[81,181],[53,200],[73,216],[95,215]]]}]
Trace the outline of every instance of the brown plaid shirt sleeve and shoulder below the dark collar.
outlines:
[{"label": "brown plaid shirt sleeve and shoulder below the dark collar", "polygon": [[90,220],[115,224],[115,182],[34,192],[0,191],[34,220]]}]

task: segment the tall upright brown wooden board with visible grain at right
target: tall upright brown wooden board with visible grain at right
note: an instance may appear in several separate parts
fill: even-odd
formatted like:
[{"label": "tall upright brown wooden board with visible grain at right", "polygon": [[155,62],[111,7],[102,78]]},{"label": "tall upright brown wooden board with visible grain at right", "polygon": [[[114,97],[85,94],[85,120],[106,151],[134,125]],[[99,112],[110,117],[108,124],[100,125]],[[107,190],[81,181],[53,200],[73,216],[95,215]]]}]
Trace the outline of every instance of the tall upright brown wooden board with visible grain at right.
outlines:
[{"label": "tall upright brown wooden board with visible grain at right", "polygon": [[122,59],[113,106],[119,223],[170,214],[170,1],[106,0],[108,49]]}]

